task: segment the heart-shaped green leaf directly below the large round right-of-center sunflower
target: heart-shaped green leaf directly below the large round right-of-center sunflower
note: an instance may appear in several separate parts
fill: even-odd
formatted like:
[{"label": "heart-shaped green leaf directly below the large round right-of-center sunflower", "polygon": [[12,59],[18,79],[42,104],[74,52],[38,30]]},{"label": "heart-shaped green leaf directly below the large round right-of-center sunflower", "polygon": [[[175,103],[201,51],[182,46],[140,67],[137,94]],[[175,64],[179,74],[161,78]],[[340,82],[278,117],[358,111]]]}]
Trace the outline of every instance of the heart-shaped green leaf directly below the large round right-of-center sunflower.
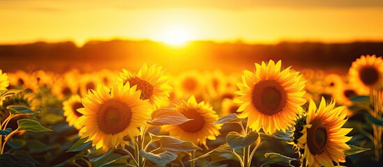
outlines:
[{"label": "heart-shaped green leaf directly below the large round right-of-center sunflower", "polygon": [[226,143],[232,149],[246,148],[257,141],[258,136],[260,135],[255,131],[246,134],[246,136],[242,136],[238,132],[230,132],[226,136]]}]

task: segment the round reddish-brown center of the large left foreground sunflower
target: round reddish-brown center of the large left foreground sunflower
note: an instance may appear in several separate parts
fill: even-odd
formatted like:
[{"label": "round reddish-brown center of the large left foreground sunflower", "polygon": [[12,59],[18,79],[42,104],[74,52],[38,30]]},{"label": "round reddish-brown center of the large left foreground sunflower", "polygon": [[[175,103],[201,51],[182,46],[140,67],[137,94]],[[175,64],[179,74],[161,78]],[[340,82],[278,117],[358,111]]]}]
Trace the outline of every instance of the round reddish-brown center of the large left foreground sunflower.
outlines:
[{"label": "round reddish-brown center of the large left foreground sunflower", "polygon": [[118,134],[130,125],[131,118],[132,111],[128,104],[107,100],[100,105],[97,123],[105,134]]}]

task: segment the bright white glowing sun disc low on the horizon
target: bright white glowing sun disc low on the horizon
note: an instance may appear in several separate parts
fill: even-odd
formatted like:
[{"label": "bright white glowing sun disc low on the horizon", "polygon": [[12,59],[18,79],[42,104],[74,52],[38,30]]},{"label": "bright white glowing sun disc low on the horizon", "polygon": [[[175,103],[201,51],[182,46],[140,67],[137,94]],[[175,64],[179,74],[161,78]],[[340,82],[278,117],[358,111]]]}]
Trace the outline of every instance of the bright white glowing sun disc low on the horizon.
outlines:
[{"label": "bright white glowing sun disc low on the horizon", "polygon": [[164,29],[159,40],[170,45],[183,45],[191,40],[191,31],[186,26],[171,26]]}]

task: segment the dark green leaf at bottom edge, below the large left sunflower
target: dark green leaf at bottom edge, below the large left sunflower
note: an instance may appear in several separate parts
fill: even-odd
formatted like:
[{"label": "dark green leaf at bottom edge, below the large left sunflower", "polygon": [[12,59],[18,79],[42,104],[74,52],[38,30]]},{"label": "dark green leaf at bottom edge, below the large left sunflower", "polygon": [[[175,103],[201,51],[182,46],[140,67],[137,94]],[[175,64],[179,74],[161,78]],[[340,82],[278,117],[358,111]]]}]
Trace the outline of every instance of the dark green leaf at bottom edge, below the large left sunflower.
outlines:
[{"label": "dark green leaf at bottom edge, below the large left sunflower", "polygon": [[121,154],[112,153],[96,161],[94,164],[98,167],[106,166],[128,166],[128,155],[122,156]]}]

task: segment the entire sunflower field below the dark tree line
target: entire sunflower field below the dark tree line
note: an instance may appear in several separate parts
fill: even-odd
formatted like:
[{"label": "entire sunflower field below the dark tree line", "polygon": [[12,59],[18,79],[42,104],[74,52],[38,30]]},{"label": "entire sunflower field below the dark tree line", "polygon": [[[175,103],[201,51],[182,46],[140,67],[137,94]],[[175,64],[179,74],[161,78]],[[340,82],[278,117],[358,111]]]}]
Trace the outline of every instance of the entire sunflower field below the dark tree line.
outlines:
[{"label": "entire sunflower field below the dark tree line", "polygon": [[383,60],[3,72],[0,166],[381,166]]}]

